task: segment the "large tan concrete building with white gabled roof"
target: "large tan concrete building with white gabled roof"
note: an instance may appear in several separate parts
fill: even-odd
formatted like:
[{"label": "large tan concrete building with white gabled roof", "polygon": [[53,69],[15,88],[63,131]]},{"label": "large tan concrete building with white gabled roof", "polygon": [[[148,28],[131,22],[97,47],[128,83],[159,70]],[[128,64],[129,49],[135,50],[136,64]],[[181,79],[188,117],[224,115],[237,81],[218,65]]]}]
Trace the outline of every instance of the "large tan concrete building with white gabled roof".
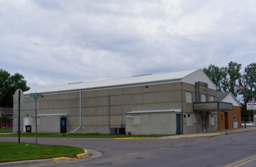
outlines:
[{"label": "large tan concrete building with white gabled roof", "polygon": [[[39,133],[62,133],[64,130],[67,133],[108,134],[110,128],[120,127],[120,124],[125,124],[126,128],[127,123],[130,126],[127,128],[146,128],[146,134],[218,130],[219,108],[205,108],[207,102],[216,99],[216,86],[201,69],[41,87],[24,92],[21,132],[25,132],[27,124],[32,124],[32,132],[35,132],[36,102],[30,93],[42,93],[37,100]],[[133,115],[143,115],[139,111],[147,113],[134,119]],[[135,121],[130,121],[129,116]],[[126,122],[127,119],[130,122]],[[143,124],[147,119],[151,123],[149,126]],[[17,131],[18,103],[14,100],[13,132]]]}]

